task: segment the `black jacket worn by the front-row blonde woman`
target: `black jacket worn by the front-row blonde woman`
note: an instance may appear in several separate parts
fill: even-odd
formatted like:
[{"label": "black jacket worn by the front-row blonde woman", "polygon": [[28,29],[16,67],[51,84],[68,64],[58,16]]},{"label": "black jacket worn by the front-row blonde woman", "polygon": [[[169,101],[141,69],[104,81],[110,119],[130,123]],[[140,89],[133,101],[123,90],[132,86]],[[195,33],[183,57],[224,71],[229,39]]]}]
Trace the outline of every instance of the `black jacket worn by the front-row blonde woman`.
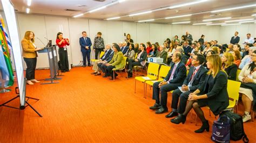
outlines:
[{"label": "black jacket worn by the front-row blonde woman", "polygon": [[[207,95],[207,103],[214,115],[219,115],[221,111],[227,108],[229,105],[228,93],[227,93],[227,74],[224,71],[219,73],[213,78],[208,85],[208,92],[206,93],[207,82],[212,75],[206,77],[204,86],[200,86],[198,89],[200,94]],[[199,99],[198,101],[204,101],[205,99]]]}]

